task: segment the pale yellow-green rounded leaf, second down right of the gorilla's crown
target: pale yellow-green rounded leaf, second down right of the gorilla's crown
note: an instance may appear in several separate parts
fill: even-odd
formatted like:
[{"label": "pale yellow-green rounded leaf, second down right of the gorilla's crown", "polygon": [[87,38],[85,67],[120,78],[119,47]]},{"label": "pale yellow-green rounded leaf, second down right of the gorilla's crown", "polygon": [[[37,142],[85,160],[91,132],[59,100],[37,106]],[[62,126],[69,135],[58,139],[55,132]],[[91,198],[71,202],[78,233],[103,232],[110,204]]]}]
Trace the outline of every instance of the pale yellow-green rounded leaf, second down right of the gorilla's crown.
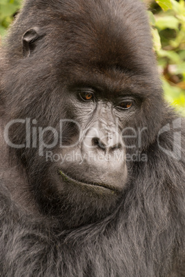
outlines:
[{"label": "pale yellow-green rounded leaf, second down right of the gorilla's crown", "polygon": [[179,20],[173,16],[160,17],[155,22],[155,26],[160,30],[164,30],[166,28],[179,30]]}]

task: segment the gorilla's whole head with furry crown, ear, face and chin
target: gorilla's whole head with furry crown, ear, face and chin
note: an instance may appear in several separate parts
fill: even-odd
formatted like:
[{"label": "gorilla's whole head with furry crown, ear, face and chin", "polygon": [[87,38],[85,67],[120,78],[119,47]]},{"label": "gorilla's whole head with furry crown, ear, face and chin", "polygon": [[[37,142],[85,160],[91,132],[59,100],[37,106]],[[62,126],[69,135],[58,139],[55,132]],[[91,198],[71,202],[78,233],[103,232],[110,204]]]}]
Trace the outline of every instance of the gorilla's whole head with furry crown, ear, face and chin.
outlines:
[{"label": "gorilla's whole head with furry crown, ear, face and chin", "polygon": [[136,11],[127,0],[105,1],[104,8],[99,1],[96,12],[93,3],[80,3],[51,1],[44,11],[42,0],[26,3],[14,25],[12,70],[3,84],[7,119],[32,123],[29,143],[23,122],[9,133],[12,143],[23,145],[15,154],[30,190],[41,212],[67,227],[116,209],[134,168],[126,155],[155,141],[162,114],[142,3]]}]

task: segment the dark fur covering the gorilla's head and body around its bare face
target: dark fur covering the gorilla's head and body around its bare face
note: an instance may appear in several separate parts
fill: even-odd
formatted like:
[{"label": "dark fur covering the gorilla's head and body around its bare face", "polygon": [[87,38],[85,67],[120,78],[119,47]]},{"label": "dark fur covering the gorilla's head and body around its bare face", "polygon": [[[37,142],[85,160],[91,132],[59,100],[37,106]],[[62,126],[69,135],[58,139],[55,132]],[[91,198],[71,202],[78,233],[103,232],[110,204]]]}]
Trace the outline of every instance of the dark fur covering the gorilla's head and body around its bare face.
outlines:
[{"label": "dark fur covering the gorilla's head and body around its bare face", "polygon": [[[23,52],[23,36],[37,30]],[[109,98],[129,87],[142,99],[123,124],[147,128],[139,147],[147,161],[128,162],[121,198],[113,196],[110,206],[106,197],[101,203],[76,188],[58,195],[55,165],[37,148],[14,151],[3,139],[12,119],[37,119],[59,130],[59,119],[74,117],[76,106],[65,103],[70,84],[79,80],[104,83]],[[0,82],[0,275],[185,276],[185,124],[181,119],[181,129],[173,130],[179,116],[163,101],[143,4],[27,0],[1,49]],[[168,123],[160,145],[172,150],[174,132],[180,132],[181,157],[165,154],[157,143]],[[68,143],[76,130],[67,126],[64,134]],[[10,137],[25,143],[25,127],[16,125]]]}]

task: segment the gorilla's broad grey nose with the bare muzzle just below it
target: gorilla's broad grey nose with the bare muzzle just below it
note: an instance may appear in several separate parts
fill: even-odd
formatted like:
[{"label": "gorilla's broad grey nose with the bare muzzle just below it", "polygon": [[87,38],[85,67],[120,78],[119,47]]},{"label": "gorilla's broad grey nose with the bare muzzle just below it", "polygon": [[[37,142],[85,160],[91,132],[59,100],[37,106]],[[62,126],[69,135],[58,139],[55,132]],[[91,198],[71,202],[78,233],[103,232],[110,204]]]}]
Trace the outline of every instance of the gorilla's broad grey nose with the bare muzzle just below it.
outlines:
[{"label": "gorilla's broad grey nose with the bare muzzle just below it", "polygon": [[[101,129],[99,132],[97,130],[93,128],[86,132],[81,147],[84,161],[90,168],[99,172],[102,178],[104,174],[115,176],[115,172],[119,172],[126,165],[126,151],[121,132],[113,128]],[[111,176],[110,180],[113,180]]]}]

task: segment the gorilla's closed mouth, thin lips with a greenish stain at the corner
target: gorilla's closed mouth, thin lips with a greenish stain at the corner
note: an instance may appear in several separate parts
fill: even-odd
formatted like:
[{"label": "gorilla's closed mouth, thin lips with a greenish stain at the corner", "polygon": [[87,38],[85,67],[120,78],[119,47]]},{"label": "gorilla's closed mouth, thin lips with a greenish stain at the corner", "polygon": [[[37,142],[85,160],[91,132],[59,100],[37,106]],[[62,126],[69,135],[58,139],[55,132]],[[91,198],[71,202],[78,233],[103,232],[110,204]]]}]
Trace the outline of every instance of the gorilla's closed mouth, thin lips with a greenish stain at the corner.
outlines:
[{"label": "gorilla's closed mouth, thin lips with a greenish stain at the corner", "polygon": [[80,180],[77,180],[77,179],[74,179],[74,178],[68,176],[61,170],[59,170],[59,176],[61,176],[63,181],[66,183],[73,183],[74,185],[81,185],[81,186],[85,185],[85,186],[96,187],[96,188],[99,187],[99,188],[103,188],[103,189],[109,189],[112,191],[112,193],[119,193],[119,190],[117,188],[113,187],[113,185],[107,185],[105,183],[85,183],[84,181],[80,181]]}]

